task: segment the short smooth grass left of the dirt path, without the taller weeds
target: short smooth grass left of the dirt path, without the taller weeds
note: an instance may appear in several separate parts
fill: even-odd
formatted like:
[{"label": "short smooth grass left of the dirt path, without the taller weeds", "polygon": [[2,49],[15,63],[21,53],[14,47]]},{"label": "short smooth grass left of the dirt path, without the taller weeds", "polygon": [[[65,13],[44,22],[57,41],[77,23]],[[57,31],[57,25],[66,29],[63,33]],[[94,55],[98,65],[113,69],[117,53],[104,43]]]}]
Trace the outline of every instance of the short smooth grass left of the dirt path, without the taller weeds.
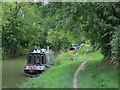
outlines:
[{"label": "short smooth grass left of the dirt path, without the taller weeds", "polygon": [[[76,65],[77,64],[77,65]],[[27,88],[71,88],[72,76],[76,70],[77,62],[68,62],[47,70],[37,78],[26,82]]]}]

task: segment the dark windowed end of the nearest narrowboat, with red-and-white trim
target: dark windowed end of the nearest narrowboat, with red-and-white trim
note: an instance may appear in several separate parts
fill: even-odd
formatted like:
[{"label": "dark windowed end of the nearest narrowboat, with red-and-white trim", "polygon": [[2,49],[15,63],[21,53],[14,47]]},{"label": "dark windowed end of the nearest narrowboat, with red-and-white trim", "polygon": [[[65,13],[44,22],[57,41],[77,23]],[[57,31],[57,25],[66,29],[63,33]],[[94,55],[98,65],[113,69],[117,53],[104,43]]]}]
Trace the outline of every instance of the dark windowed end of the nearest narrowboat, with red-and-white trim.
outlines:
[{"label": "dark windowed end of the nearest narrowboat, with red-and-white trim", "polygon": [[44,53],[29,53],[24,67],[25,75],[38,75],[45,71],[46,55]]}]

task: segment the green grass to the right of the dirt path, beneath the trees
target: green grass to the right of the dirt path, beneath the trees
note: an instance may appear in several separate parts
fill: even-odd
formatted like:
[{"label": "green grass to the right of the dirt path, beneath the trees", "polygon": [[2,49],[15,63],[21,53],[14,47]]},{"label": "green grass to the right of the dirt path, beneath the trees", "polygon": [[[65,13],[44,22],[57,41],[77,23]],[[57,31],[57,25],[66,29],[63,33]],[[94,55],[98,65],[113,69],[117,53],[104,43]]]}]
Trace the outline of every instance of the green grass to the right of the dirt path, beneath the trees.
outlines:
[{"label": "green grass to the right of the dirt path, beneath the trees", "polygon": [[78,88],[118,88],[118,72],[114,66],[100,71],[103,56],[99,51],[88,54],[86,68],[78,74]]}]

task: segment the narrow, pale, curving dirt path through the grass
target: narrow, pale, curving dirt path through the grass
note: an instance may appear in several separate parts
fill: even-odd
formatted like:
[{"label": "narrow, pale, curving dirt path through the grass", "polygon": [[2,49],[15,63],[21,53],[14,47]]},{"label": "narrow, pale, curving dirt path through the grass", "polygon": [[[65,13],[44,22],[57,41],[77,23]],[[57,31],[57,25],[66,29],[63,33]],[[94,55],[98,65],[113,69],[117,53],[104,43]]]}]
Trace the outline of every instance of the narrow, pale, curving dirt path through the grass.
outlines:
[{"label": "narrow, pale, curving dirt path through the grass", "polygon": [[[87,55],[87,52],[89,50],[87,49],[85,52],[84,52],[84,56]],[[91,60],[91,58],[89,57],[89,60]],[[73,88],[77,88],[77,75],[78,73],[80,72],[80,70],[84,69],[85,68],[85,64],[87,63],[87,61],[83,62],[82,64],[79,65],[79,67],[77,68],[77,70],[75,71],[74,75],[73,75]]]}]

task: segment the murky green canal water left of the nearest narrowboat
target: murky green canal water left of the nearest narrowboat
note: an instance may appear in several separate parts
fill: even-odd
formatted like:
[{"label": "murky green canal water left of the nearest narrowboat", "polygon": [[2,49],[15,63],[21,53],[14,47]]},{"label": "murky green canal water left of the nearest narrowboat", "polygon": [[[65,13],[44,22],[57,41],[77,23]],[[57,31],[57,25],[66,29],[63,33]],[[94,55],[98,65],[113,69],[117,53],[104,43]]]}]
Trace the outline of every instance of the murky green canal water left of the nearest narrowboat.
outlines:
[{"label": "murky green canal water left of the nearest narrowboat", "polygon": [[2,61],[2,87],[18,88],[28,77],[24,75],[26,57]]}]

